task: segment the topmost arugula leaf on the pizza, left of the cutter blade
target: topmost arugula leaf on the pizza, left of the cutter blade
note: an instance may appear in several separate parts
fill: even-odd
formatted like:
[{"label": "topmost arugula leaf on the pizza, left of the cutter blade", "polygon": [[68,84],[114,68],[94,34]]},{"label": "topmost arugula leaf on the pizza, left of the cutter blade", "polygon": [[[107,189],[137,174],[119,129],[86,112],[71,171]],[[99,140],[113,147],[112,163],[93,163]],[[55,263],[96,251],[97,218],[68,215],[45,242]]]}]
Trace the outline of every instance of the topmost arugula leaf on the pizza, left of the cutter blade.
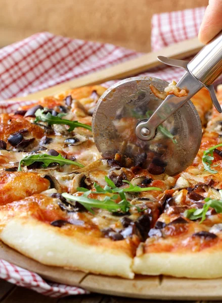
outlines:
[{"label": "topmost arugula leaf on the pizza, left of the cutter blade", "polygon": [[69,129],[68,131],[72,131],[75,127],[83,127],[83,128],[86,128],[86,129],[89,129],[92,131],[92,127],[90,125],[86,125],[86,124],[83,124],[83,123],[80,123],[78,121],[70,121],[70,120],[66,120],[66,119],[62,119],[62,117],[66,116],[66,114],[58,114],[57,116],[53,116],[51,113],[47,113],[47,114],[44,114],[44,111],[46,111],[47,109],[38,109],[36,112],[35,112],[35,122],[39,122],[39,121],[42,121],[42,122],[47,122],[49,125],[52,125],[52,124],[65,124],[65,125],[68,125],[69,126]]}]

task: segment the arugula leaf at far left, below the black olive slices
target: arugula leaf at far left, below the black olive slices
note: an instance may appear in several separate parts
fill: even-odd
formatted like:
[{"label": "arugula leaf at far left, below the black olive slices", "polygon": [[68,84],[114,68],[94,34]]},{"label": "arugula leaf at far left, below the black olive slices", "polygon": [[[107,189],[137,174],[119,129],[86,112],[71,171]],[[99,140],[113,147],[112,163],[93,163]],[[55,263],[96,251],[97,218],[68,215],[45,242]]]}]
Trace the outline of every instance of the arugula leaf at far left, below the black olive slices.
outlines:
[{"label": "arugula leaf at far left, below the black olive slices", "polygon": [[34,162],[43,162],[42,167],[43,168],[47,168],[51,163],[58,163],[60,165],[65,165],[65,164],[69,164],[69,165],[76,165],[79,167],[84,167],[82,164],[75,162],[75,161],[71,161],[68,159],[63,158],[60,154],[58,156],[51,156],[48,154],[40,154],[40,155],[30,155],[30,156],[26,156],[25,158],[21,159],[19,162],[19,167],[18,167],[18,172],[21,172],[21,166],[28,166],[33,164]]}]

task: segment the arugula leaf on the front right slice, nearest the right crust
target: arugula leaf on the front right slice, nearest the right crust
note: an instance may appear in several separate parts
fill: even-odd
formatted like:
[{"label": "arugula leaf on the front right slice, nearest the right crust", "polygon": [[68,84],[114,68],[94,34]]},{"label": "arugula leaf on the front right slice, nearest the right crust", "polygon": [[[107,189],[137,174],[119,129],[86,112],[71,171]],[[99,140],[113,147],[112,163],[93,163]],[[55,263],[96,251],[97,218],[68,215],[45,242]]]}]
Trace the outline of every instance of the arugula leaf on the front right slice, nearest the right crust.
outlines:
[{"label": "arugula leaf on the front right slice, nearest the right crust", "polygon": [[202,209],[190,209],[184,212],[184,216],[190,220],[197,220],[201,218],[200,223],[206,219],[206,213],[212,207],[217,214],[222,213],[222,200],[205,198],[205,204]]}]

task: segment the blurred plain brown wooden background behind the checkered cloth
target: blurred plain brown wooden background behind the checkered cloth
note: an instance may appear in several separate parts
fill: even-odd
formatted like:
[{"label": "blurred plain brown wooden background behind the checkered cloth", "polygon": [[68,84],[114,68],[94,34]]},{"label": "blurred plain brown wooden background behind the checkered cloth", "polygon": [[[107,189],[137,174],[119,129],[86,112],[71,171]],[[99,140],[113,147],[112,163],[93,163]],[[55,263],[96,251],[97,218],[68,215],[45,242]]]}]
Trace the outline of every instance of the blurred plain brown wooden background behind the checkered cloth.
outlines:
[{"label": "blurred plain brown wooden background behind the checkered cloth", "polygon": [[0,0],[0,47],[40,31],[150,50],[154,13],[208,0]]}]

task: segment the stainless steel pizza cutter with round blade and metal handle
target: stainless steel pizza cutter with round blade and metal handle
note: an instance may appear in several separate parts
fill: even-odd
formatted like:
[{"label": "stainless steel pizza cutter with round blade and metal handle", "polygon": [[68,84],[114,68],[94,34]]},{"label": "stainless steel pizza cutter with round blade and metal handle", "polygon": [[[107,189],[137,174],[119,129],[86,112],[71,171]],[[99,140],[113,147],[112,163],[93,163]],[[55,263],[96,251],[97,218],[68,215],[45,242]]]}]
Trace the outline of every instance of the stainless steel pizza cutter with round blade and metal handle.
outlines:
[{"label": "stainless steel pizza cutter with round blade and metal handle", "polygon": [[93,133],[102,156],[126,167],[142,166],[151,174],[176,175],[192,164],[200,147],[202,127],[190,98],[206,87],[213,105],[221,108],[212,83],[222,73],[222,34],[190,61],[158,59],[181,67],[185,74],[176,84],[187,95],[160,97],[168,85],[152,77],[122,80],[100,97],[93,115]]}]

